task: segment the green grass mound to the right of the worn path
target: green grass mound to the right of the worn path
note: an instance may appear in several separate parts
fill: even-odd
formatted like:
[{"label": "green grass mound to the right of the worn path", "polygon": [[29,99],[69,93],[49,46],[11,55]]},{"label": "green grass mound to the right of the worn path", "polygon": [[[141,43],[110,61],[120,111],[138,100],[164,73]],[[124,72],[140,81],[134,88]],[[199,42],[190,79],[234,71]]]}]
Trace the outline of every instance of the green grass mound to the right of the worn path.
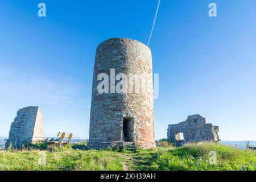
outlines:
[{"label": "green grass mound to the right of the worn path", "polygon": [[[216,152],[216,164],[210,164],[210,151]],[[161,171],[255,171],[256,153],[236,150],[216,143],[187,144],[159,151],[139,151],[134,159],[135,170]],[[210,160],[212,161],[212,160]]]}]

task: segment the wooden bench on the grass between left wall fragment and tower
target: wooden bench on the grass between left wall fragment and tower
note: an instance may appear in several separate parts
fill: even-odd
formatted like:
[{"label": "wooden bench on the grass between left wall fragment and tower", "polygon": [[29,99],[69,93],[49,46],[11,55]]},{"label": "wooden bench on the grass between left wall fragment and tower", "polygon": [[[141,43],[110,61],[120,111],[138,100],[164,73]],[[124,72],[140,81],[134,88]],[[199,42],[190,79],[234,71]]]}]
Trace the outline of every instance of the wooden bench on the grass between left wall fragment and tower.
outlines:
[{"label": "wooden bench on the grass between left wall fragment and tower", "polygon": [[[59,132],[57,137],[59,138],[50,138],[47,139],[47,149],[52,149],[54,147],[61,148],[66,144],[71,143],[72,133]],[[68,138],[67,141],[64,141],[65,138]]]}]

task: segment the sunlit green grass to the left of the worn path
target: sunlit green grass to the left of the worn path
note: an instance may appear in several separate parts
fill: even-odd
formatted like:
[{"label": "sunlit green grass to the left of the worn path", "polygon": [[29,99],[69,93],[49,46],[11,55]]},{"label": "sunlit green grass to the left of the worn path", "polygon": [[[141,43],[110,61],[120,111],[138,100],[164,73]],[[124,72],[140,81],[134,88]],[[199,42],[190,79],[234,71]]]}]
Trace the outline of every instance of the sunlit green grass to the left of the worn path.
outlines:
[{"label": "sunlit green grass to the left of the worn path", "polygon": [[46,164],[41,164],[42,154],[32,151],[0,151],[0,170],[123,170],[122,158],[112,151],[84,151],[62,148],[46,152]]}]

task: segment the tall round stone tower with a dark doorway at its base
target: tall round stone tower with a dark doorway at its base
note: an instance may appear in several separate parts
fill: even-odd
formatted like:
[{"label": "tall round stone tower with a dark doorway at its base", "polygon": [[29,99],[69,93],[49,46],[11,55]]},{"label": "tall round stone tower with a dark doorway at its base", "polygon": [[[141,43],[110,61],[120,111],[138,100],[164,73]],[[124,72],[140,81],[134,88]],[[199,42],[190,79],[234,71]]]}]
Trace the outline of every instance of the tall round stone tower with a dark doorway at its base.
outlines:
[{"label": "tall round stone tower with a dark doorway at its base", "polygon": [[137,40],[113,38],[96,51],[88,148],[155,147],[152,58]]}]

